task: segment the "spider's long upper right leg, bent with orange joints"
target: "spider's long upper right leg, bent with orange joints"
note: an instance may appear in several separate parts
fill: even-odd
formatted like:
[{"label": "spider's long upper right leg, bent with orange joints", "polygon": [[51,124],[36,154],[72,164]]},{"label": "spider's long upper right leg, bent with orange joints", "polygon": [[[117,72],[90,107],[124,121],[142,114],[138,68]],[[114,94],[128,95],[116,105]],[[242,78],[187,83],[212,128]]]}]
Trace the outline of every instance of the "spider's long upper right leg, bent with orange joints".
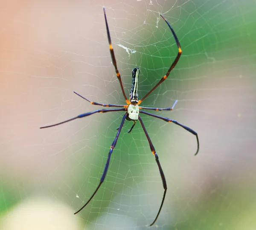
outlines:
[{"label": "spider's long upper right leg, bent with orange joints", "polygon": [[169,26],[170,30],[172,31],[173,37],[175,38],[175,42],[177,44],[177,47],[178,47],[179,51],[178,51],[178,54],[177,54],[175,60],[172,62],[172,65],[168,69],[166,75],[162,77],[162,79],[154,86],[154,88],[151,89],[151,91],[149,91],[142,99],[139,100],[138,105],[140,105],[140,103],[144,99],[146,99],[148,97],[148,95],[151,94],[152,91],[154,91],[155,88],[157,88],[158,85],[160,85],[164,80],[166,80],[166,78],[169,76],[170,72],[172,71],[172,69],[175,67],[175,65],[177,64],[178,60],[180,59],[180,55],[182,53],[181,48],[180,48],[180,42],[179,42],[179,40],[177,38],[177,35],[175,34],[175,31],[173,30],[173,28],[170,25],[170,23],[166,20],[166,18],[163,17],[163,14],[161,14],[161,17],[163,18],[163,20],[166,21],[167,25]]}]

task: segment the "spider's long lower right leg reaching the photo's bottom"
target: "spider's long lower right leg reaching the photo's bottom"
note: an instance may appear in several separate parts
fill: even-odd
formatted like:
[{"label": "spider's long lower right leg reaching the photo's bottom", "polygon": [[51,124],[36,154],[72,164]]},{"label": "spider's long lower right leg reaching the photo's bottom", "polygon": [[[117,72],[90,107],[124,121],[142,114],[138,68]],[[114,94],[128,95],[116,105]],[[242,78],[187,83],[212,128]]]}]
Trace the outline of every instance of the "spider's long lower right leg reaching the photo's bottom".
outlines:
[{"label": "spider's long lower right leg reaching the photo's bottom", "polygon": [[163,169],[162,169],[162,167],[161,167],[161,165],[160,165],[160,162],[159,162],[159,159],[158,159],[156,150],[155,150],[155,148],[154,148],[154,145],[153,145],[152,142],[151,142],[151,139],[150,139],[149,136],[148,136],[148,132],[146,131],[146,128],[145,128],[145,126],[144,126],[144,124],[143,124],[142,119],[141,119],[140,116],[139,116],[139,120],[140,120],[140,124],[141,124],[141,126],[142,126],[142,128],[143,128],[143,130],[144,130],[144,132],[145,132],[145,134],[146,134],[146,137],[147,137],[147,139],[148,139],[148,143],[149,143],[150,149],[151,149],[152,153],[153,153],[154,156],[155,156],[155,159],[156,159],[156,162],[157,162],[157,166],[158,166],[158,168],[159,168],[160,176],[161,176],[161,179],[162,179],[162,182],[163,182],[163,188],[164,188],[162,203],[161,203],[161,205],[160,205],[160,208],[159,208],[159,211],[158,211],[158,213],[157,213],[156,218],[154,219],[153,223],[150,224],[150,226],[152,226],[152,225],[155,223],[155,221],[157,221],[157,218],[158,218],[158,216],[159,216],[159,214],[160,214],[160,211],[161,211],[161,209],[162,209],[162,207],[163,207],[163,202],[164,202],[164,199],[165,199],[165,196],[166,196],[166,191],[167,191],[167,185],[166,185],[165,176],[164,176],[164,174],[163,174]]}]

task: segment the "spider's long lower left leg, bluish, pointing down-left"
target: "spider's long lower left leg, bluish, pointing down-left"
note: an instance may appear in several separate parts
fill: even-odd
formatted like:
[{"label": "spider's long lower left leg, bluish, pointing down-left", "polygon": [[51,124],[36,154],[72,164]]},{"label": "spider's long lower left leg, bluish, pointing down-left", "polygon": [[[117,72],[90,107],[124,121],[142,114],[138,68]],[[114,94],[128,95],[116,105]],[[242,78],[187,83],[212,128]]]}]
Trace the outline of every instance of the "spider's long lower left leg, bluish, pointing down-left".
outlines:
[{"label": "spider's long lower left leg, bluish, pointing down-left", "polygon": [[104,179],[105,179],[105,176],[106,176],[106,174],[107,174],[107,172],[108,172],[108,166],[109,166],[111,154],[112,154],[112,152],[113,152],[113,149],[114,149],[115,146],[116,146],[116,142],[117,142],[117,139],[118,139],[118,137],[119,137],[120,131],[121,131],[123,125],[124,125],[126,116],[127,116],[127,113],[125,113],[125,115],[123,116],[121,125],[120,125],[120,127],[119,127],[119,129],[118,129],[118,131],[117,131],[117,133],[116,133],[116,138],[114,139],[114,141],[113,141],[113,143],[112,143],[112,145],[111,145],[111,147],[110,147],[110,151],[109,151],[109,153],[108,153],[108,160],[107,160],[107,163],[106,163],[106,165],[105,165],[104,171],[103,171],[103,173],[102,173],[102,177],[101,177],[101,179],[100,179],[100,182],[99,182],[98,187],[96,188],[96,190],[94,191],[94,193],[93,193],[93,195],[90,197],[90,199],[86,202],[86,204],[84,204],[84,206],[81,207],[81,208],[80,208],[77,212],[75,212],[74,214],[79,213],[79,212],[91,201],[91,199],[93,199],[93,196],[96,194],[96,192],[98,191],[99,187],[100,187],[101,184],[103,183],[103,181],[104,181]]}]

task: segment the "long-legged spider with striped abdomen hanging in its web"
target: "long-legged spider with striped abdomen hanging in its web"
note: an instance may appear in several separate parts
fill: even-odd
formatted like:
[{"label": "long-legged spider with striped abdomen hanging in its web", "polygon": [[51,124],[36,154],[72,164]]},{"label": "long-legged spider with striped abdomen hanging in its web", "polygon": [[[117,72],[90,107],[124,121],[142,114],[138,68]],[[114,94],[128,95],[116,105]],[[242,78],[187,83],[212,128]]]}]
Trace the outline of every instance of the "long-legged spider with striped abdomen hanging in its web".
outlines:
[{"label": "long-legged spider with striped abdomen hanging in its web", "polygon": [[[85,117],[85,116],[90,116],[92,114],[96,114],[96,113],[107,113],[107,112],[116,112],[116,111],[125,111],[125,114],[124,116],[122,117],[122,122],[121,122],[121,125],[119,126],[119,128],[117,128],[117,133],[116,133],[116,137],[110,147],[110,151],[108,153],[108,159],[107,159],[107,162],[106,162],[106,165],[105,165],[105,168],[103,170],[103,173],[102,173],[102,177],[100,179],[100,182],[99,182],[99,185],[98,187],[96,188],[96,190],[94,191],[93,195],[90,197],[90,199],[86,202],[86,204],[84,204],[83,207],[81,207],[76,213],[79,213],[90,201],[91,199],[93,199],[93,196],[96,194],[96,192],[98,191],[99,187],[102,185],[102,183],[104,182],[104,179],[105,179],[105,176],[108,172],[108,167],[109,167],[109,163],[110,163],[110,158],[111,158],[111,154],[113,152],[113,149],[115,148],[116,146],[116,142],[118,140],[118,137],[119,137],[119,134],[121,132],[121,129],[124,125],[124,122],[125,122],[125,119],[128,120],[128,121],[132,121],[133,122],[133,125],[131,126],[130,130],[128,131],[128,133],[130,133],[132,131],[132,129],[134,128],[137,120],[140,121],[140,124],[143,128],[143,131],[148,139],[148,143],[149,143],[149,146],[150,146],[150,149],[152,151],[152,153],[154,154],[155,156],[155,160],[157,162],[157,166],[159,168],[159,172],[160,172],[160,176],[161,176],[161,179],[162,179],[162,182],[163,182],[163,188],[164,188],[164,193],[163,193],[163,198],[162,198],[162,202],[160,204],[160,208],[158,210],[158,213],[157,213],[157,216],[155,217],[154,221],[152,222],[152,224],[150,224],[150,226],[152,226],[156,221],[157,221],[157,218],[160,214],[160,211],[163,207],[163,202],[164,202],[164,199],[165,199],[165,196],[166,196],[166,191],[167,191],[167,184],[166,184],[166,179],[165,179],[165,176],[164,176],[164,173],[163,173],[163,169],[160,165],[160,161],[158,159],[158,156],[157,156],[157,153],[156,153],[156,150],[154,148],[154,145],[152,144],[151,142],[151,139],[150,137],[148,136],[148,132],[146,131],[145,129],[145,126],[143,124],[143,121],[140,117],[140,113],[141,114],[146,114],[148,116],[153,116],[153,117],[156,117],[156,118],[159,118],[159,119],[162,119],[166,122],[172,122],[176,125],[179,125],[180,127],[186,129],[186,131],[189,131],[190,133],[194,134],[196,136],[196,139],[197,139],[197,151],[195,153],[195,155],[198,153],[199,151],[199,140],[198,140],[198,134],[192,130],[191,128],[185,126],[185,125],[182,125],[180,124],[179,122],[175,121],[175,120],[172,120],[172,119],[169,119],[169,118],[166,118],[166,117],[163,117],[163,116],[158,116],[158,115],[155,115],[155,114],[150,114],[144,110],[155,110],[155,111],[164,111],[164,110],[173,110],[174,106],[176,105],[177,103],[177,100],[174,102],[172,108],[148,108],[148,107],[142,107],[142,106],[139,106],[141,102],[143,102],[149,94],[151,94],[155,88],[157,88],[158,85],[160,85],[164,80],[166,80],[166,78],[169,76],[170,72],[172,71],[172,69],[175,67],[175,65],[177,64],[178,60],[180,59],[180,55],[181,55],[181,48],[180,48],[180,42],[174,32],[174,30],[172,29],[172,26],[169,24],[169,22],[166,20],[165,17],[163,17],[162,14],[161,17],[163,18],[163,20],[165,20],[165,22],[167,23],[167,25],[169,26],[170,30],[172,31],[172,35],[174,36],[175,38],[175,42],[177,44],[177,47],[178,47],[178,53],[177,53],[177,56],[174,60],[174,62],[172,62],[172,65],[170,66],[170,68],[168,69],[166,75],[164,77],[162,77],[162,79],[151,89],[151,91],[149,91],[142,99],[139,100],[138,98],[138,79],[139,79],[139,74],[140,74],[140,69],[139,68],[134,68],[131,73],[132,73],[132,85],[131,85],[131,92],[130,92],[130,98],[127,99],[127,97],[125,96],[125,91],[124,91],[124,88],[123,88],[123,85],[122,85],[122,80],[121,80],[121,76],[120,76],[120,73],[117,69],[117,65],[116,65],[116,58],[115,58],[115,55],[114,55],[114,51],[113,51],[113,47],[112,47],[112,43],[111,43],[111,37],[110,37],[110,32],[109,32],[109,28],[108,28],[108,22],[107,22],[107,17],[106,17],[106,11],[105,11],[105,8],[103,8],[103,11],[104,11],[104,17],[105,17],[105,24],[106,24],[106,29],[107,29],[107,34],[108,34],[108,43],[109,43],[109,48],[110,48],[110,54],[111,54],[111,58],[112,58],[112,63],[115,67],[115,71],[116,71],[116,76],[117,76],[117,79],[119,80],[119,83],[120,83],[120,86],[121,86],[121,89],[122,89],[122,94],[125,98],[125,101],[127,103],[127,105],[112,105],[112,104],[101,104],[101,103],[98,103],[98,102],[91,102],[90,100],[86,99],[85,97],[81,96],[80,94],[76,93],[74,91],[75,94],[77,94],[79,97],[87,100],[88,102],[90,102],[92,105],[101,105],[103,107],[119,107],[119,108],[113,108],[113,109],[98,109],[98,110],[95,110],[95,111],[92,111],[92,112],[88,112],[88,113],[85,113],[85,114],[80,114],[74,118],[71,118],[71,119],[68,119],[66,121],[63,121],[63,122],[59,122],[57,124],[54,124],[54,125],[47,125],[47,126],[44,126],[44,127],[41,127],[41,128],[49,128],[49,127],[52,127],[52,126],[56,126],[56,125],[61,125],[63,123],[66,123],[66,122],[69,122],[69,121],[72,121],[72,120],[75,120],[75,119],[78,119],[78,118],[82,118],[82,117]],[[74,214],[76,214],[74,213]]]}]

